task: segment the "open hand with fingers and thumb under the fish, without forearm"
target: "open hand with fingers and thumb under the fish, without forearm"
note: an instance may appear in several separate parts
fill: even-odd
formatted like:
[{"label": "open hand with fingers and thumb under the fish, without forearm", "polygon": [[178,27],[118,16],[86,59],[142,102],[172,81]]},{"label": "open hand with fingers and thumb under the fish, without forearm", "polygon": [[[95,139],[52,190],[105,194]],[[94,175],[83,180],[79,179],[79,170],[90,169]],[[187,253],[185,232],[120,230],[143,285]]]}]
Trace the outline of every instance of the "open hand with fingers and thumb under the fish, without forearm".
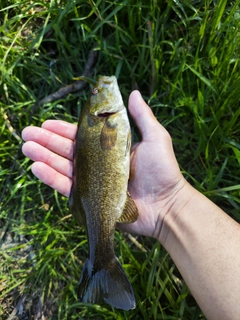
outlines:
[{"label": "open hand with fingers and thumb under the fish, without forearm", "polygon": [[[159,238],[162,221],[184,179],[180,173],[171,137],[159,124],[138,91],[129,97],[129,111],[142,134],[133,145],[129,192],[138,210],[138,220],[120,225],[121,230]],[[40,180],[69,196],[72,185],[72,154],[77,126],[47,120],[42,127],[27,127],[23,153],[34,163],[32,172]]]}]

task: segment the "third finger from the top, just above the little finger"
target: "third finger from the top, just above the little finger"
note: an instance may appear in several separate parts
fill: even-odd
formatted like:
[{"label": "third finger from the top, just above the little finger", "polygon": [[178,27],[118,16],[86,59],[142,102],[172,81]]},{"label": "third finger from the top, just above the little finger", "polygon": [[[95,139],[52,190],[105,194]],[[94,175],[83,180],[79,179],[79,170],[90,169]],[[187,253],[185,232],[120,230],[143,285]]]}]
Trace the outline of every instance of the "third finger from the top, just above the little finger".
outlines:
[{"label": "third finger from the top, just above the little finger", "polygon": [[44,162],[57,172],[72,178],[72,161],[42,147],[34,141],[25,142],[22,146],[23,154],[33,161]]}]

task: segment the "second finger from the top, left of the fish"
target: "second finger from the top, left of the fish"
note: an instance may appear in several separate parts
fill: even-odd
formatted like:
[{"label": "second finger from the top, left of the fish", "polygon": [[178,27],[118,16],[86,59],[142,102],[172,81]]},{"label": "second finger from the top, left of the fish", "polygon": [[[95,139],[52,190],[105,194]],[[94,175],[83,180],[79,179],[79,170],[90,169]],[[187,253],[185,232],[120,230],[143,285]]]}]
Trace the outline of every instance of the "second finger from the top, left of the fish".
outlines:
[{"label": "second finger from the top, left of the fish", "polygon": [[22,138],[25,141],[35,141],[60,156],[72,160],[73,141],[68,138],[34,126],[24,128]]}]

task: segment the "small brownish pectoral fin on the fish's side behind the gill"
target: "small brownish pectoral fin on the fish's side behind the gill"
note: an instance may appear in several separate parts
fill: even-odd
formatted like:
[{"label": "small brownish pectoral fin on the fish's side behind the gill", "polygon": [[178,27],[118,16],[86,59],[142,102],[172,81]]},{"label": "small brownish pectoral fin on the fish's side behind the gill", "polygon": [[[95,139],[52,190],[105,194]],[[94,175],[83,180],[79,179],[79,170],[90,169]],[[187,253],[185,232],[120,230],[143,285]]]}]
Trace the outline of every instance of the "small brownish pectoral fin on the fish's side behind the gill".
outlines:
[{"label": "small brownish pectoral fin on the fish's side behind the gill", "polygon": [[100,136],[100,144],[102,150],[111,149],[117,141],[117,123],[106,121]]}]

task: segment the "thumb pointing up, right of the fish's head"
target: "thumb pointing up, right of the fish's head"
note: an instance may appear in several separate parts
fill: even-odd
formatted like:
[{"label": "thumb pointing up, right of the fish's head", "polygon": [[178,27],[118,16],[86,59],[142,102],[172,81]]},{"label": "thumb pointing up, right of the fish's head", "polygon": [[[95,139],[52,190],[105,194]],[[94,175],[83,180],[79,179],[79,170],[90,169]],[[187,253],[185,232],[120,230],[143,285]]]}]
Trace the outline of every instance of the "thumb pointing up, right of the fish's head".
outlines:
[{"label": "thumb pointing up, right of the fish's head", "polygon": [[135,90],[130,94],[128,109],[141,132],[143,140],[154,141],[156,134],[161,134],[163,131],[166,131],[157,121],[139,91]]}]

